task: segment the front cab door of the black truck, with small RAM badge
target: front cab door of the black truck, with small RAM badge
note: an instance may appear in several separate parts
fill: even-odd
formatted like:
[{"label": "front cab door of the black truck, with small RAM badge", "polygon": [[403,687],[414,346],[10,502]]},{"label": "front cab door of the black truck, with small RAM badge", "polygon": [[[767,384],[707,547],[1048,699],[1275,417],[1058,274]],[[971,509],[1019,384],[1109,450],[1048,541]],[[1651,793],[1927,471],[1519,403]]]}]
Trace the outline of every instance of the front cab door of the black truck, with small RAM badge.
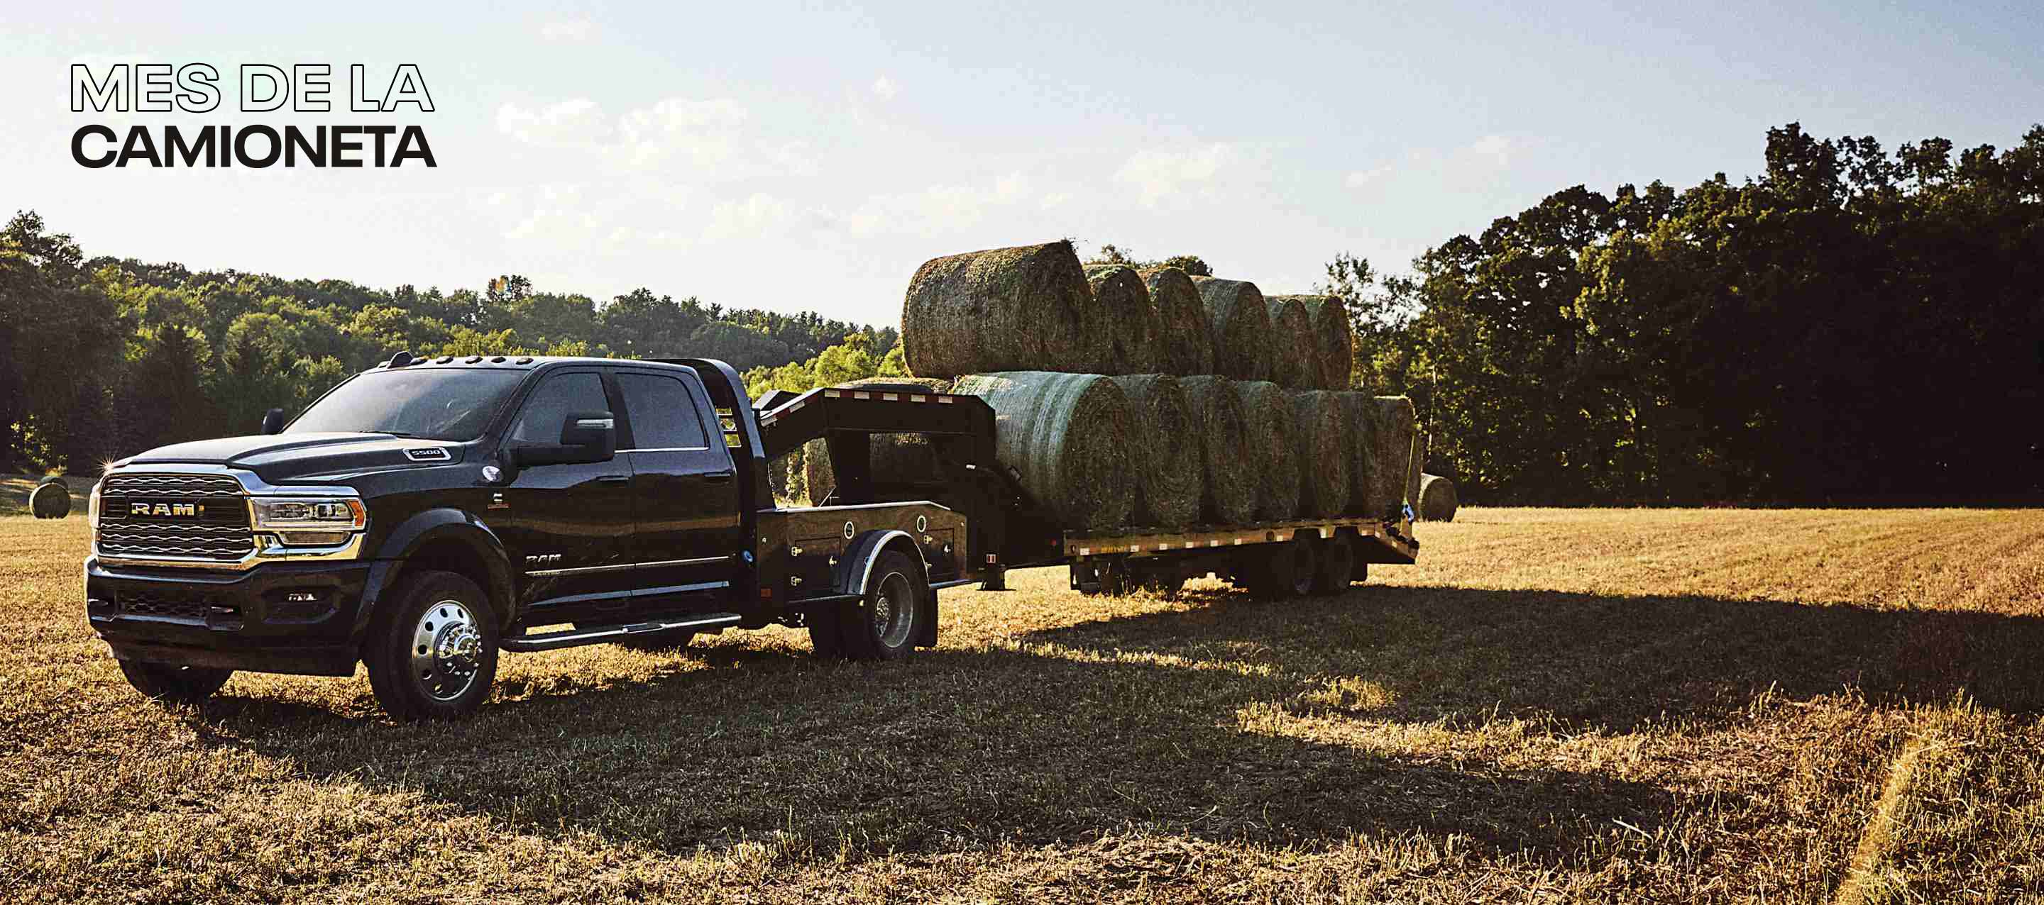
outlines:
[{"label": "front cab door of the black truck, with small RAM badge", "polygon": [[[505,447],[558,443],[568,415],[613,411],[597,368],[540,378],[505,433]],[[615,413],[613,413],[615,415]],[[615,421],[615,417],[613,417]],[[601,619],[623,613],[634,576],[623,539],[632,533],[632,462],[525,466],[484,513],[519,572],[521,621]]]}]

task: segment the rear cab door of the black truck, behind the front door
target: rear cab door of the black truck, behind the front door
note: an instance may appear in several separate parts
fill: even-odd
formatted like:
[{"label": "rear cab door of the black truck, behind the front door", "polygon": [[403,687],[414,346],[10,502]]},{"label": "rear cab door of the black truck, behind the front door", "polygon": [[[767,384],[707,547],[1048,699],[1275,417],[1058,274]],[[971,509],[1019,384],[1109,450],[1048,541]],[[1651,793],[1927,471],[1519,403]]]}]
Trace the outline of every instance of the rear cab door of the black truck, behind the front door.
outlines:
[{"label": "rear cab door of the black truck, behind the front door", "polygon": [[722,605],[734,560],[750,550],[740,535],[738,480],[701,380],[685,370],[617,370],[632,460],[638,529],[630,558],[638,564],[640,601],[658,613]]}]

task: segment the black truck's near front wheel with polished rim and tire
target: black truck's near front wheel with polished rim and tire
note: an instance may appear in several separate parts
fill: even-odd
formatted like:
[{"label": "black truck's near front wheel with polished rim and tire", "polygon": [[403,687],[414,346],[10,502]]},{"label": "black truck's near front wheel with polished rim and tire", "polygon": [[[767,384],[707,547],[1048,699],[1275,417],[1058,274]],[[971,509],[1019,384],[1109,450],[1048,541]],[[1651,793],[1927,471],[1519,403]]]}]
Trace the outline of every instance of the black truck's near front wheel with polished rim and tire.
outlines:
[{"label": "black truck's near front wheel with polished rim and tire", "polygon": [[407,721],[474,713],[497,680],[497,611],[476,582],[413,572],[362,641],[376,701]]}]

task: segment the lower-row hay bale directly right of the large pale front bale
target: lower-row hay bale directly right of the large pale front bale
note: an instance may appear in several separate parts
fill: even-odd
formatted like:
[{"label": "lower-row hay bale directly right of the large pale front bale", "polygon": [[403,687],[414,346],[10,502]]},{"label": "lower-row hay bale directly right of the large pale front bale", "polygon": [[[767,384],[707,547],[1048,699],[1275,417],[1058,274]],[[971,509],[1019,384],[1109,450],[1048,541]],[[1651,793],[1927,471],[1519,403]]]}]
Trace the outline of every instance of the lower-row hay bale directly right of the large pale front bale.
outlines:
[{"label": "lower-row hay bale directly right of the large pale front bale", "polygon": [[1200,521],[1204,486],[1198,429],[1186,392],[1169,374],[1128,374],[1114,378],[1128,396],[1134,423],[1128,435],[1128,464],[1136,476],[1130,525],[1181,529]]}]

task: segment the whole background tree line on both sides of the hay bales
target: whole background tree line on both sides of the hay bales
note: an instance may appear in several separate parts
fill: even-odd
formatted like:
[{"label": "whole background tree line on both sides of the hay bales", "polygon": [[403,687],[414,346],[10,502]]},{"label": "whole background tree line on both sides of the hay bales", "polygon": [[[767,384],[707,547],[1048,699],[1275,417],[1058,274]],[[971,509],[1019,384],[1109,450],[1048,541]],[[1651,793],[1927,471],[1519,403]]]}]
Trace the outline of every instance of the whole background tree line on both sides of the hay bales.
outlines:
[{"label": "whole background tree line on both sides of the hay bales", "polygon": [[[1410,274],[1337,255],[1318,290],[1355,315],[1351,382],[1414,398],[1427,470],[1466,498],[2044,492],[2044,127],[2009,149],[1887,151],[1786,125],[1744,182],[1564,188]],[[895,339],[517,276],[442,294],[86,261],[20,215],[0,235],[0,456],[63,466],[239,433],[399,347],[711,355],[758,394],[901,376]]]}]

